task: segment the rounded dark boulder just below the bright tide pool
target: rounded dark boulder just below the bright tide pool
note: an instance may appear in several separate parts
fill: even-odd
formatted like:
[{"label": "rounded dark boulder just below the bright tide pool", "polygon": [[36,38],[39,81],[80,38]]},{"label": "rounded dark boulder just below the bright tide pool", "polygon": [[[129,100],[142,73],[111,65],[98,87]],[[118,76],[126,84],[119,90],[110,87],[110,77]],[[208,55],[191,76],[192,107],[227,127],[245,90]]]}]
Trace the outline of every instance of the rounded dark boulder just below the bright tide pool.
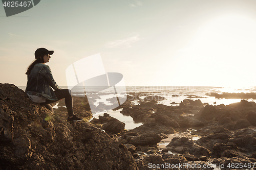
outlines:
[{"label": "rounded dark boulder just below the bright tide pool", "polygon": [[114,119],[102,126],[102,129],[106,132],[120,133],[124,130],[125,124],[120,122],[118,119]]}]

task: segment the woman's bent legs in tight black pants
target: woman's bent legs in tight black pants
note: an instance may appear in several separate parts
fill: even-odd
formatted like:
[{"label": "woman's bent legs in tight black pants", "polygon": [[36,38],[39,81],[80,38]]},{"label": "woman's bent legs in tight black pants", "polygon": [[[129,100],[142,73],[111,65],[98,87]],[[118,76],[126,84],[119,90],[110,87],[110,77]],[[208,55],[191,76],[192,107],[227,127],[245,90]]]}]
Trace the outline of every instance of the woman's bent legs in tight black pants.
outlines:
[{"label": "woman's bent legs in tight black pants", "polygon": [[54,93],[55,93],[55,95],[57,97],[56,101],[46,100],[45,103],[40,103],[40,105],[46,106],[47,109],[49,109],[49,110],[51,110],[53,112],[53,109],[51,109],[52,106],[49,105],[49,104],[57,102],[60,99],[64,99],[65,98],[65,105],[67,107],[69,117],[73,116],[73,114],[74,114],[74,112],[73,112],[73,98],[72,98],[71,90],[69,90],[69,89],[55,90]]}]

